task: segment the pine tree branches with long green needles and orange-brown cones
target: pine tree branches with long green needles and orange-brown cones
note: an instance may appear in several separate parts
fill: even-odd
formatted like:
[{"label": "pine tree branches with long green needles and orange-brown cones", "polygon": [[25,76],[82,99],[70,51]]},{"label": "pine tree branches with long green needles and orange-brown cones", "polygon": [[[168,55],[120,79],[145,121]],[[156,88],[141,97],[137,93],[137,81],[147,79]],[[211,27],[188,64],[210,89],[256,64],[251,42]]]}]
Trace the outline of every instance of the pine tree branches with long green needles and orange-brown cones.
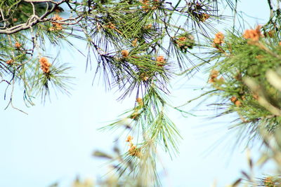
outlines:
[{"label": "pine tree branches with long green needles and orange-brown cones", "polygon": [[[223,110],[218,116],[237,113],[239,123],[235,128],[241,131],[238,139],[261,139],[276,155],[272,158],[280,169],[280,147],[268,143],[271,136],[277,139],[277,144],[280,141],[277,136],[281,119],[279,0],[276,4],[268,0],[270,20],[253,28],[235,25],[235,20],[242,18],[238,3],[1,1],[0,83],[7,85],[3,92],[9,95],[8,106],[18,109],[13,104],[13,88],[18,85],[27,106],[33,105],[32,98],[39,95],[45,102],[54,90],[69,93],[72,77],[67,71],[71,67],[50,56],[46,45],[69,44],[75,48],[72,39],[85,41],[86,67],[96,64],[95,74],[103,76],[105,86],[122,91],[118,99],[136,97],[133,108],[123,113],[120,120],[103,127],[103,130],[121,127],[131,133],[126,139],[129,144],[126,153],[120,153],[117,147],[116,155],[94,153],[114,160],[112,166],[117,175],[104,184],[161,186],[157,148],[174,156],[181,139],[167,110],[188,113],[181,107],[191,102],[181,107],[170,104],[169,83],[178,76],[188,78],[194,70],[207,66],[209,87],[204,88],[206,92],[200,98],[215,95],[221,99],[214,103]],[[226,7],[233,10],[233,27],[218,31],[216,25],[228,18],[218,10]],[[204,51],[204,57],[197,49]],[[275,178],[262,179],[261,183],[277,186],[279,178]],[[79,179],[74,184],[89,185]]]}]

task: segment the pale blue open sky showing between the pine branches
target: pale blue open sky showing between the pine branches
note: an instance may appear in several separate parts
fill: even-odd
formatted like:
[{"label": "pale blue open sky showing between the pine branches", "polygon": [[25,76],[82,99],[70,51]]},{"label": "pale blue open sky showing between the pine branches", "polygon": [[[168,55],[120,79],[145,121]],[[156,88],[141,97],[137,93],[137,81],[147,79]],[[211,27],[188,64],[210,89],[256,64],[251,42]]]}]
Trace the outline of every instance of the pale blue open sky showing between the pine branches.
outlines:
[{"label": "pale blue open sky showing between the pine branches", "polygon": [[[251,27],[268,18],[266,1],[242,1],[238,8],[260,18],[247,18]],[[85,50],[84,43],[74,43]],[[48,50],[55,48],[50,46]],[[85,73],[83,55],[66,46],[60,55],[60,60],[72,64],[70,75],[76,77],[70,96],[58,93],[45,104],[36,99],[36,106],[27,108],[22,104],[21,91],[16,89],[14,104],[28,115],[11,107],[4,110],[8,102],[0,100],[0,186],[40,187],[54,182],[70,186],[77,175],[96,179],[107,172],[106,160],[93,158],[91,154],[95,150],[110,153],[119,134],[97,129],[131,109],[135,97],[117,101],[119,92],[105,90],[102,81],[92,84],[94,69]],[[190,80],[173,81],[171,102],[180,105],[198,95],[200,91],[195,89],[206,83],[204,78],[206,74],[198,72]],[[0,84],[0,98],[4,98],[4,89]],[[192,105],[184,109],[191,108]],[[217,186],[226,186],[241,176],[242,169],[247,170],[244,148],[233,151],[231,147],[235,144],[235,133],[228,130],[230,118],[209,120],[206,111],[188,118],[175,111],[169,113],[183,140],[180,153],[173,160],[159,153],[167,173],[162,179],[164,186],[211,186],[214,181]],[[256,155],[256,149],[252,153]]]}]

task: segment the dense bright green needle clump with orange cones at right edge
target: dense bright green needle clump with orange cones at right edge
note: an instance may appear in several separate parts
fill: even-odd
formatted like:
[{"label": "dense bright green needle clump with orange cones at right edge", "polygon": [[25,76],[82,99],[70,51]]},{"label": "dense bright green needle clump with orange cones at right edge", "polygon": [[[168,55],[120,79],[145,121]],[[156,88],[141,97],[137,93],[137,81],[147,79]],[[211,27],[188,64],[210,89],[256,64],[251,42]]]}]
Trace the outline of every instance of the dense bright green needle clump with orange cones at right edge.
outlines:
[{"label": "dense bright green needle clump with orange cones at right edge", "polygon": [[[240,32],[226,32],[224,43],[210,53],[211,60],[216,61],[210,69],[216,69],[216,76],[221,78],[212,79],[211,73],[209,81],[216,89],[212,94],[221,98],[218,105],[226,109],[221,115],[237,113],[241,120],[237,126],[247,126],[250,134],[259,136],[259,128],[273,132],[280,124],[279,113],[273,113],[260,100],[266,98],[270,105],[280,108],[280,91],[268,83],[266,72],[280,67],[281,47],[268,37],[259,41],[244,37]],[[249,80],[258,88],[251,89]],[[250,134],[247,139],[251,139]]]}]

